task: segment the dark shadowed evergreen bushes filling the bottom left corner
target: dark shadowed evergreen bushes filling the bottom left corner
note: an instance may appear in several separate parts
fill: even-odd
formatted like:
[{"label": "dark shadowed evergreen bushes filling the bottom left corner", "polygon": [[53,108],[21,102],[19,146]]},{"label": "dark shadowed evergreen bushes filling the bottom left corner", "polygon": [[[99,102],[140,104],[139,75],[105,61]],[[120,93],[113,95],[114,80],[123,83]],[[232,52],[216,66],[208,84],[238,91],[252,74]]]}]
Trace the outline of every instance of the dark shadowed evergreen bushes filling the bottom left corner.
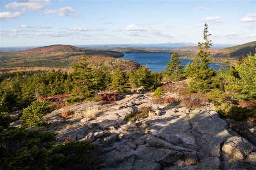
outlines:
[{"label": "dark shadowed evergreen bushes filling the bottom left corner", "polygon": [[52,132],[9,128],[0,133],[3,169],[97,169],[95,145],[82,141],[58,144]]}]

